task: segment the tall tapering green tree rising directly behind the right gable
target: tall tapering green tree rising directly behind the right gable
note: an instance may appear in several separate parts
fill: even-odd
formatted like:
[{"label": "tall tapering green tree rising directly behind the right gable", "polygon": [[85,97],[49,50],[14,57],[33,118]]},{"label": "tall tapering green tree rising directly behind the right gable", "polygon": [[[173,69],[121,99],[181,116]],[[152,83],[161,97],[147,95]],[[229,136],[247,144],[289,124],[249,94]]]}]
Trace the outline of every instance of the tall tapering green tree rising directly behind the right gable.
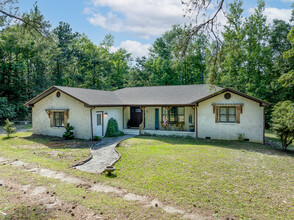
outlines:
[{"label": "tall tapering green tree rising directly behind the right gable", "polygon": [[[208,57],[208,82],[240,91],[246,90],[247,78],[245,64],[245,30],[243,23],[242,1],[236,0],[229,5],[228,22],[224,25],[223,44],[220,49],[213,44],[212,55]],[[215,53],[215,54],[214,54]]]}]

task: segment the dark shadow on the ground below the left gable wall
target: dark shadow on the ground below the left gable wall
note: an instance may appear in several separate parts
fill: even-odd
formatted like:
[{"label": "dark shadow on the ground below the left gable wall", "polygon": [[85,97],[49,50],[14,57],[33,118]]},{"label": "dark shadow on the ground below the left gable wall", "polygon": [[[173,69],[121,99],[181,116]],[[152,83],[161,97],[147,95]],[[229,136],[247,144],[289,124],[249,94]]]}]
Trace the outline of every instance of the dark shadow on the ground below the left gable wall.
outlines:
[{"label": "dark shadow on the ground below the left gable wall", "polygon": [[27,141],[32,141],[37,144],[43,144],[48,148],[52,149],[84,149],[90,148],[95,141],[87,141],[81,139],[73,139],[73,140],[65,140],[60,137],[52,137],[52,136],[45,136],[45,135],[35,135],[32,134],[31,136],[26,137],[19,137],[20,139],[25,139]]}]

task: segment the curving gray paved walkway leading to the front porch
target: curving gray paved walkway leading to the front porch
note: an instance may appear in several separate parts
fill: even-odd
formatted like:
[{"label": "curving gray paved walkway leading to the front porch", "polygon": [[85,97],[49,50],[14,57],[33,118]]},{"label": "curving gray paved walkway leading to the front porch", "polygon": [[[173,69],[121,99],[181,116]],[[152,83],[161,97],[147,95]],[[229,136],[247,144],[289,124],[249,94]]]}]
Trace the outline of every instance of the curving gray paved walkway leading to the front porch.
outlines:
[{"label": "curving gray paved walkway leading to the front porch", "polygon": [[113,165],[121,157],[120,153],[115,149],[119,142],[134,136],[135,135],[124,135],[120,137],[103,138],[91,149],[93,155],[92,159],[80,166],[76,166],[76,168],[90,173],[102,173],[106,166]]}]

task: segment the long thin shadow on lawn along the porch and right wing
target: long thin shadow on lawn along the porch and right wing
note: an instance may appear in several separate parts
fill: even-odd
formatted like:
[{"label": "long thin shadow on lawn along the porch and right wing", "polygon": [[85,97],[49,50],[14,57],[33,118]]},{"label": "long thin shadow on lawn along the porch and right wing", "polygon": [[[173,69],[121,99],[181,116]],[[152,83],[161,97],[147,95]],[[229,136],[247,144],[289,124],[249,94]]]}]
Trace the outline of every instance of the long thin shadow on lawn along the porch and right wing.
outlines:
[{"label": "long thin shadow on lawn along the porch and right wing", "polygon": [[175,138],[175,137],[153,137],[153,136],[137,136],[138,139],[154,139],[162,141],[168,144],[174,145],[210,145],[214,147],[229,148],[234,150],[246,150],[251,152],[257,152],[268,155],[277,156],[290,156],[294,157],[294,149],[289,148],[288,150],[283,150],[277,146],[263,145],[252,142],[242,142],[242,141],[225,141],[225,140],[204,140],[204,139],[185,139],[185,138]]}]

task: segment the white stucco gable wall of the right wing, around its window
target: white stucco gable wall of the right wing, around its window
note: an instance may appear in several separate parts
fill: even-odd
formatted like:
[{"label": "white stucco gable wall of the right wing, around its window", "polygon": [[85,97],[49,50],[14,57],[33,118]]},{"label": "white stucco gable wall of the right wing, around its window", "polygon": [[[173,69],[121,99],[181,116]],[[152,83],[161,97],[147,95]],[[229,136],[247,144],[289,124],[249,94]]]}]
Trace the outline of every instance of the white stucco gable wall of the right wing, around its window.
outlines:
[{"label": "white stucco gable wall of the right wing, around its window", "polygon": [[[240,134],[252,142],[263,142],[263,107],[250,99],[231,93],[230,99],[224,94],[199,103],[198,106],[198,137],[224,140],[238,140]],[[244,103],[240,114],[240,124],[216,123],[213,103]]]}]

